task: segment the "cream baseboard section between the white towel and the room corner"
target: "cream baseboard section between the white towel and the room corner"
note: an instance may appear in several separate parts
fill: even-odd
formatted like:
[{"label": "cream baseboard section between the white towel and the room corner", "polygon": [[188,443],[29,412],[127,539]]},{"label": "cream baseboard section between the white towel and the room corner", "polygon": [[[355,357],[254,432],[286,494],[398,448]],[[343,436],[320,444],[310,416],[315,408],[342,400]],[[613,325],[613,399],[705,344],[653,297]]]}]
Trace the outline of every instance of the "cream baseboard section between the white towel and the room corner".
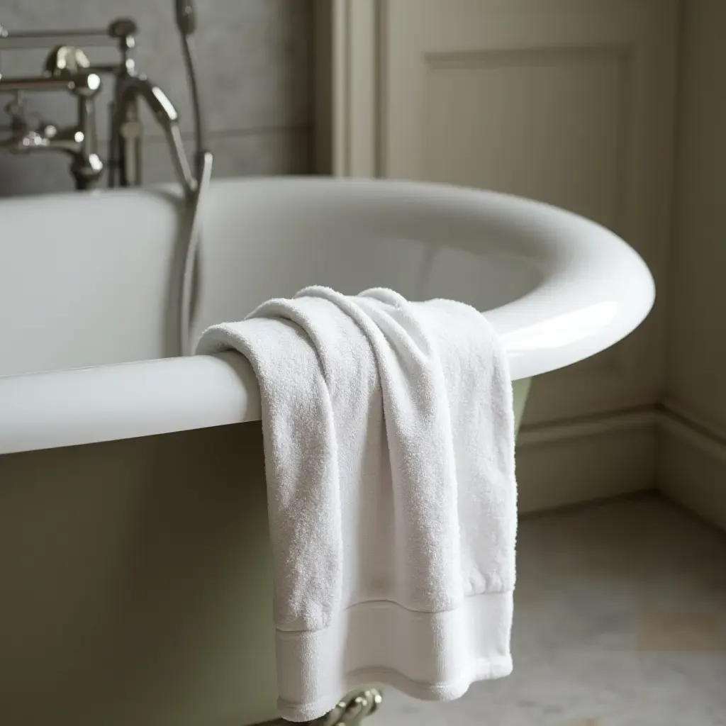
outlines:
[{"label": "cream baseboard section between the white towel and the room corner", "polygon": [[519,510],[536,512],[652,489],[656,409],[523,426],[517,440]]}]

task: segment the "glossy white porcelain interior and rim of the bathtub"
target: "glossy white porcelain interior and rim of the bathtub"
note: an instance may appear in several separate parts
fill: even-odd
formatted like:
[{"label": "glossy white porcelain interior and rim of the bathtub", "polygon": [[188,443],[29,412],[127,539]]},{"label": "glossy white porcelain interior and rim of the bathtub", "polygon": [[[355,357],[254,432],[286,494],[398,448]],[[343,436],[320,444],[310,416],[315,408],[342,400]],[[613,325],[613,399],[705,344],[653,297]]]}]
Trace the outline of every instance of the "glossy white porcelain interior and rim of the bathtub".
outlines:
[{"label": "glossy white porcelain interior and rim of the bathtub", "polygon": [[[179,212],[173,189],[0,201],[0,452],[259,417],[246,362],[170,357]],[[393,287],[483,311],[515,380],[613,345],[655,295],[643,260],[594,222],[406,181],[216,181],[202,250],[192,338],[306,285]]]}]

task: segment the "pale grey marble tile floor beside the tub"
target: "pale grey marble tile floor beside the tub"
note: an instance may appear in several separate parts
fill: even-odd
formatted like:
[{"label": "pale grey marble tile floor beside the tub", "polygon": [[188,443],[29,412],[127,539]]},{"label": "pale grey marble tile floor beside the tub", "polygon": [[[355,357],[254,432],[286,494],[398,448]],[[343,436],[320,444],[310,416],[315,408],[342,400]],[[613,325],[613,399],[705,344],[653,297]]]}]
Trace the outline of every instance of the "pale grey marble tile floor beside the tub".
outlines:
[{"label": "pale grey marble tile floor beside the tub", "polygon": [[726,533],[656,495],[525,517],[514,672],[370,726],[726,726]]}]

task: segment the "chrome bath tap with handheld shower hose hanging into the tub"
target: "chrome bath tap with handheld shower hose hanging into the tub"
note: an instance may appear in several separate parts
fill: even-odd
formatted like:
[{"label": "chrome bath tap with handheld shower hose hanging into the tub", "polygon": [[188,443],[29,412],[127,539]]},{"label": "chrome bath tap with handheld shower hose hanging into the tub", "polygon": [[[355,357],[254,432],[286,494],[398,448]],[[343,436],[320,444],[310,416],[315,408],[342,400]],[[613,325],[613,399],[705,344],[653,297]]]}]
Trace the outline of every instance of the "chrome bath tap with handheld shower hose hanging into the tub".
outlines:
[{"label": "chrome bath tap with handheld shower hose hanging into the tub", "polygon": [[[149,107],[159,123],[174,162],[176,178],[184,193],[184,228],[181,236],[183,260],[179,284],[178,349],[192,353],[189,331],[192,319],[192,293],[199,261],[200,202],[212,171],[212,154],[205,147],[202,105],[195,73],[192,35],[197,18],[192,0],[175,0],[176,28],[181,36],[181,52],[189,82],[194,121],[194,155],[189,163],[179,129],[179,114],[159,86],[139,73],[134,60],[138,28],[131,18],[114,20],[106,30],[68,30],[67,32],[8,33],[0,25],[1,53],[7,50],[52,47],[39,76],[8,78],[0,73],[0,93],[11,92],[15,99],[5,107],[9,115],[7,138],[0,139],[0,150],[15,154],[61,151],[71,157],[70,173],[76,189],[98,184],[107,168],[109,187],[132,187],[142,182],[142,124],[139,101]],[[93,65],[86,47],[115,46],[117,63]],[[1,69],[0,69],[1,70]],[[110,134],[107,163],[99,152],[95,102],[102,89],[102,78],[113,83],[110,102]],[[33,114],[25,108],[25,94],[36,91],[69,91],[78,102],[78,121],[67,129]]]}]

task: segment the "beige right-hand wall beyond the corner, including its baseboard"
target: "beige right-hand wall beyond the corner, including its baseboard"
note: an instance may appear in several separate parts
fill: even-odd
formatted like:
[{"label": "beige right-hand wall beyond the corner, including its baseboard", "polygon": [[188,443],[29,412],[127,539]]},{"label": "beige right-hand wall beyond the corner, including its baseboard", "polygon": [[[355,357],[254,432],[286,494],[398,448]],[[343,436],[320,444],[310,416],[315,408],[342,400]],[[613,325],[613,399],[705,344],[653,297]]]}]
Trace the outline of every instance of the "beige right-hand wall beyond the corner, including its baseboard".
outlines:
[{"label": "beige right-hand wall beyond the corner, including its baseboard", "polygon": [[726,526],[726,2],[684,0],[659,480]]}]

